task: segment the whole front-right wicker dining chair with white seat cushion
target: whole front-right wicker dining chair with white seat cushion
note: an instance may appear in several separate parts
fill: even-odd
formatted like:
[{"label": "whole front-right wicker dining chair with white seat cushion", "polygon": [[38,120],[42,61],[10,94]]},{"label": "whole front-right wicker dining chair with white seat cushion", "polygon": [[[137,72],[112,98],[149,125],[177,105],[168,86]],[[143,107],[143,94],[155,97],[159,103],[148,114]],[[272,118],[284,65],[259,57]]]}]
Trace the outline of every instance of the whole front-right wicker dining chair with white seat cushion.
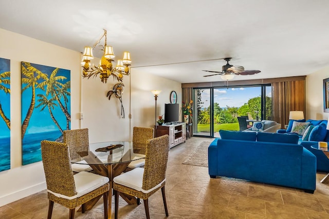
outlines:
[{"label": "whole front-right wicker dining chair with white seat cushion", "polygon": [[145,167],[138,167],[114,177],[115,218],[118,218],[119,192],[143,199],[146,216],[150,218],[148,200],[159,189],[162,192],[166,216],[169,215],[165,194],[168,152],[168,134],[152,138],[147,141]]}]

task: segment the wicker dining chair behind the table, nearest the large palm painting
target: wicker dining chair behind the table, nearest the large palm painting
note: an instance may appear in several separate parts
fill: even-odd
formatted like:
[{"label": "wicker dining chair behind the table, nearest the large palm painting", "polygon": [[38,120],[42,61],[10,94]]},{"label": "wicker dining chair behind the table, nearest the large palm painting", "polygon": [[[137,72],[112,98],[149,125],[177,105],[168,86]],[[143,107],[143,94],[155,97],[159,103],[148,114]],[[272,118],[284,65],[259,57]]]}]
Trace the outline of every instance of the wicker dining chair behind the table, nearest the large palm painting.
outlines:
[{"label": "wicker dining chair behind the table, nearest the large palm painting", "polygon": [[[71,160],[77,160],[81,157],[78,152],[89,151],[89,136],[87,128],[64,130],[63,138],[63,142],[69,147]],[[83,163],[84,161],[81,162]],[[74,172],[81,172],[92,171],[93,169],[87,164],[72,164],[72,170]]]}]

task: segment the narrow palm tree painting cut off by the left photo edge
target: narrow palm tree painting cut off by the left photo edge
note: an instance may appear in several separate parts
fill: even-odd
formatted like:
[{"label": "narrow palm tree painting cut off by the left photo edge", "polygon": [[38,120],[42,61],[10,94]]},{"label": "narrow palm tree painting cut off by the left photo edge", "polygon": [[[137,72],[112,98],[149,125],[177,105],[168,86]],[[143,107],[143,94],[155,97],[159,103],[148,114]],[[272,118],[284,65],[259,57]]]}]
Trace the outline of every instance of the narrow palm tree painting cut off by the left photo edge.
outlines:
[{"label": "narrow palm tree painting cut off by the left photo edge", "polygon": [[10,169],[10,60],[0,58],[0,171]]}]

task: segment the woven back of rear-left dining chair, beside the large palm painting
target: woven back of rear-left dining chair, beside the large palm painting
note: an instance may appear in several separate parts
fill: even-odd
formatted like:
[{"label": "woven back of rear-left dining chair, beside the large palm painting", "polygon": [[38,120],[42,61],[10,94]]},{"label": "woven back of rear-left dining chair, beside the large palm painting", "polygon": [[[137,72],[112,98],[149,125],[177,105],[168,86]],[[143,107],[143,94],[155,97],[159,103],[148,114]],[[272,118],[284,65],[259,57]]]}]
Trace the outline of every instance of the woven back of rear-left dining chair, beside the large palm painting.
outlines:
[{"label": "woven back of rear-left dining chair, beside the large palm painting", "polygon": [[87,128],[64,130],[63,138],[64,143],[69,147],[71,160],[80,159],[81,156],[79,153],[82,156],[87,155],[89,151],[89,136]]}]

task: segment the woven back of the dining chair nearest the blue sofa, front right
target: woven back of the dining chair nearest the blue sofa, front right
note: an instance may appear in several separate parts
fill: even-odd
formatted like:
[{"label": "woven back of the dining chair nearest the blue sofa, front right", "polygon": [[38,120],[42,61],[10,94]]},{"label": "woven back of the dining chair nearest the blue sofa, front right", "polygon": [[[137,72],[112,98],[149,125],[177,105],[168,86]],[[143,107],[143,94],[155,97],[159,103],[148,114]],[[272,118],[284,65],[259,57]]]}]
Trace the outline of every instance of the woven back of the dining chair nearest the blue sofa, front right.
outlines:
[{"label": "woven back of the dining chair nearest the blue sofa, front right", "polygon": [[147,141],[142,189],[149,190],[166,178],[169,135]]}]

